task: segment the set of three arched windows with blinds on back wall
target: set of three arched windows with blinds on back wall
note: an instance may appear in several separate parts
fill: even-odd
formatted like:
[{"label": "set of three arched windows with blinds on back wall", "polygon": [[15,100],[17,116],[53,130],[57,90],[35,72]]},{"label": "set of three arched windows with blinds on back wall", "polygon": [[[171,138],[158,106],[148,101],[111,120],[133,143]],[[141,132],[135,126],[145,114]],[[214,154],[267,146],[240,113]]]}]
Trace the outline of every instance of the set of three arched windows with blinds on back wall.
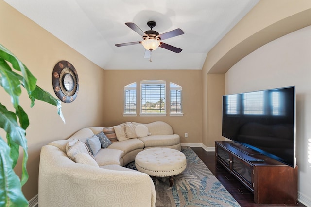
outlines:
[{"label": "set of three arched windows with blinds on back wall", "polygon": [[166,103],[165,81],[143,80],[140,82],[139,109],[137,108],[137,84],[131,83],[124,87],[123,116],[136,116],[137,110],[140,110],[140,116],[166,116],[166,104],[170,104],[167,105],[170,106],[170,116],[183,116],[182,87],[170,83],[170,95],[168,96],[170,96],[170,102]]}]

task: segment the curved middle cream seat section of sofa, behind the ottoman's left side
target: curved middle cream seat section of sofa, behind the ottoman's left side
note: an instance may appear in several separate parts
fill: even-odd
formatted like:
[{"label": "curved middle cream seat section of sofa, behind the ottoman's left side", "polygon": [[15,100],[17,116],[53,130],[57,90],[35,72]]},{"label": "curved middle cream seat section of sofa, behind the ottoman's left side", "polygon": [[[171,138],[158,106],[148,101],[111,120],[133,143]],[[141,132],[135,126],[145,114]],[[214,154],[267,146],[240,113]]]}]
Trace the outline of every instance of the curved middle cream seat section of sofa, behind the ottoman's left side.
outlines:
[{"label": "curved middle cream seat section of sofa, behind the ottoman's left side", "polygon": [[128,139],[122,142],[114,142],[110,146],[109,149],[119,149],[122,150],[125,154],[131,152],[135,149],[144,148],[144,143],[139,139]]}]

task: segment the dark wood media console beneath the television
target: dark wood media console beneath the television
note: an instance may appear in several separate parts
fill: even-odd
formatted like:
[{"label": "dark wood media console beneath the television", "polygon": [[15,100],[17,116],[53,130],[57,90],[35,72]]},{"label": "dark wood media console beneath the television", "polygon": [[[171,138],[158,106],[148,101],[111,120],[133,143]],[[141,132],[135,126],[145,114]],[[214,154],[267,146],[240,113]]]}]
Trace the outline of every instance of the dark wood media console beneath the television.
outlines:
[{"label": "dark wood media console beneath the television", "polygon": [[[292,168],[233,141],[215,141],[216,163],[254,193],[262,204],[296,204],[298,202],[298,167]],[[254,163],[249,160],[263,159]]]}]

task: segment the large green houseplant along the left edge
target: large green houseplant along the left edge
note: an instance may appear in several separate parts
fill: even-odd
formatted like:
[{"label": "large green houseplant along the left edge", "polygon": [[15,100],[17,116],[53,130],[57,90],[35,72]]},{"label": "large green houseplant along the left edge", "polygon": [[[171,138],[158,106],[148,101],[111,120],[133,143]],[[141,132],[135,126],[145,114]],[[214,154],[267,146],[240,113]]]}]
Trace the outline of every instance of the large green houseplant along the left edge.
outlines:
[{"label": "large green houseplant along the left edge", "polygon": [[[19,103],[22,87],[28,93],[31,107],[34,106],[35,99],[52,104],[57,107],[58,114],[65,122],[60,101],[37,86],[36,81],[29,69],[0,44],[0,86],[10,95],[15,110],[15,112],[9,111],[2,105],[3,96],[0,96],[0,128],[6,132],[6,139],[0,137],[0,207],[28,206],[28,201],[21,191],[21,186],[28,179],[25,130],[29,126],[28,115]],[[19,147],[23,149],[21,179],[14,172],[19,157]]]}]

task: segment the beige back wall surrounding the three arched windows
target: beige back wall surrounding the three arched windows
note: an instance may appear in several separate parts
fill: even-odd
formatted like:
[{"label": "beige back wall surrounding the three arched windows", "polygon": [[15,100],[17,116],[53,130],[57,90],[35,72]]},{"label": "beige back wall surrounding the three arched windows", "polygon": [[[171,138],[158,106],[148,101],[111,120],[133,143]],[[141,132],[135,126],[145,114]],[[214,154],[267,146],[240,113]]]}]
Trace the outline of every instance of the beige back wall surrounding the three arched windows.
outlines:
[{"label": "beige back wall surrounding the three arched windows", "polygon": [[[124,86],[137,83],[137,104],[140,106],[140,81],[165,80],[169,86],[173,82],[182,87],[182,117],[123,117]],[[167,87],[167,95],[169,95]],[[104,71],[104,126],[111,127],[127,121],[149,123],[165,121],[179,134],[182,143],[202,143],[202,79],[201,70],[105,70]],[[169,97],[169,96],[167,96]],[[166,102],[169,109],[169,102]],[[188,138],[184,137],[188,133]]]}]

